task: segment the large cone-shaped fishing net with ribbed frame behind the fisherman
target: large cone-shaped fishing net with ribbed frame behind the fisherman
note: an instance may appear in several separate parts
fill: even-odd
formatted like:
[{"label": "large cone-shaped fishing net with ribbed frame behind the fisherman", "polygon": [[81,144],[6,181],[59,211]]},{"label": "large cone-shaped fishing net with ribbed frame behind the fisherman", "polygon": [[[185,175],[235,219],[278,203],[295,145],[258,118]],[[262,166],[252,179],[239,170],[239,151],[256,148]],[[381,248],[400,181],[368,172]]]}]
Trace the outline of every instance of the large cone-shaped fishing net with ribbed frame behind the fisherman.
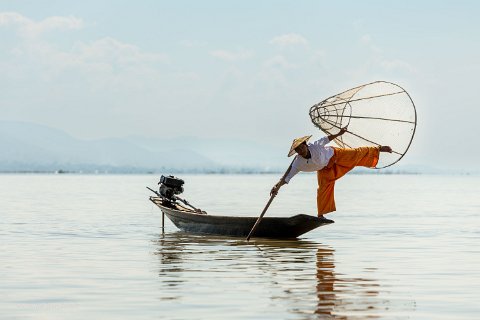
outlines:
[{"label": "large cone-shaped fishing net with ribbed frame behind the fisherman", "polygon": [[413,100],[400,86],[376,81],[331,96],[310,108],[313,124],[325,134],[348,131],[334,142],[341,148],[390,146],[375,168],[398,162],[415,134],[417,113]]}]

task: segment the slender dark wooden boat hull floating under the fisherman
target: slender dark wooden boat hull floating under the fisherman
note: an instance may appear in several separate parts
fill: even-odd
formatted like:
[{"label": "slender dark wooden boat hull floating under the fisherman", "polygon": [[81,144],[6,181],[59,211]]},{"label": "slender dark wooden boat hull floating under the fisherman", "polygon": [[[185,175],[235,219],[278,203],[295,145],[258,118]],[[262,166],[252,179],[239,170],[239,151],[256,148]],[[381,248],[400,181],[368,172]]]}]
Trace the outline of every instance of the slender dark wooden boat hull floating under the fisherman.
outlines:
[{"label": "slender dark wooden boat hull floating under the fisherman", "polygon": [[[173,224],[185,232],[246,237],[258,217],[217,216],[199,213],[178,203],[165,202],[160,197],[150,197]],[[264,217],[255,231],[256,238],[297,238],[298,236],[333,220],[306,214],[289,218]]]}]

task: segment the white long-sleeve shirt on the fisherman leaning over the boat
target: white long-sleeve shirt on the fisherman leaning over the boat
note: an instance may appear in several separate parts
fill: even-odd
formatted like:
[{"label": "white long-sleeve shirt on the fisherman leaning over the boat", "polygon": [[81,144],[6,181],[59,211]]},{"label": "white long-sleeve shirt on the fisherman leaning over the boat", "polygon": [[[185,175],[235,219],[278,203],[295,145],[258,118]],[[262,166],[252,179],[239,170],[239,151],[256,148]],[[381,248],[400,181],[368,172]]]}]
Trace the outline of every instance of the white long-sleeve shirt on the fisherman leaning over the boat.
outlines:
[{"label": "white long-sleeve shirt on the fisherman leaning over the boat", "polygon": [[328,137],[323,137],[313,143],[308,143],[307,146],[311,157],[305,159],[297,155],[295,160],[293,160],[290,172],[285,177],[285,182],[288,183],[300,171],[312,172],[322,170],[333,156],[333,148],[327,146],[329,142]]}]

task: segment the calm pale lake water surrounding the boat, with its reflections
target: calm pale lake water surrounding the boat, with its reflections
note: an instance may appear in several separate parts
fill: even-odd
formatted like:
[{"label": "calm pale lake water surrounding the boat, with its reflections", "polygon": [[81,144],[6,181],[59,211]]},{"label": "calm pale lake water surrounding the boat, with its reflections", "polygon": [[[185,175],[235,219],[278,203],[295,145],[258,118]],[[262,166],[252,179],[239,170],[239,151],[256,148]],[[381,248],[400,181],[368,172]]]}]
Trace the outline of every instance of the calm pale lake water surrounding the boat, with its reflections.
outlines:
[{"label": "calm pale lake water surrounding the boat, with its reflections", "polygon": [[[274,175],[183,175],[210,214],[258,216]],[[157,176],[0,175],[0,319],[478,319],[480,177],[347,175],[296,241],[189,235]],[[315,214],[315,175],[269,216]]]}]

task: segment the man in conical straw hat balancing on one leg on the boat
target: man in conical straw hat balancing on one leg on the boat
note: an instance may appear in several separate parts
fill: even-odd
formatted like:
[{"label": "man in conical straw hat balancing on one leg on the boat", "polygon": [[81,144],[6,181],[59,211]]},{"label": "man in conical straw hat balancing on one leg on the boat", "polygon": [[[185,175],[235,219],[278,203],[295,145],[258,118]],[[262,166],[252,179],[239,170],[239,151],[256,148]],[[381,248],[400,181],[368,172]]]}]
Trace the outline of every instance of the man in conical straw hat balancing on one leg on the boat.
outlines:
[{"label": "man in conical straw hat balancing on one leg on the boat", "polygon": [[343,177],[356,166],[375,167],[380,152],[392,152],[389,146],[336,148],[328,146],[330,141],[347,132],[347,127],[340,129],[337,134],[320,138],[307,144],[312,137],[305,136],[293,140],[288,156],[298,155],[293,160],[285,175],[272,188],[270,195],[276,195],[280,188],[288,183],[300,171],[317,171],[317,210],[318,217],[335,211],[334,187],[335,181]]}]

